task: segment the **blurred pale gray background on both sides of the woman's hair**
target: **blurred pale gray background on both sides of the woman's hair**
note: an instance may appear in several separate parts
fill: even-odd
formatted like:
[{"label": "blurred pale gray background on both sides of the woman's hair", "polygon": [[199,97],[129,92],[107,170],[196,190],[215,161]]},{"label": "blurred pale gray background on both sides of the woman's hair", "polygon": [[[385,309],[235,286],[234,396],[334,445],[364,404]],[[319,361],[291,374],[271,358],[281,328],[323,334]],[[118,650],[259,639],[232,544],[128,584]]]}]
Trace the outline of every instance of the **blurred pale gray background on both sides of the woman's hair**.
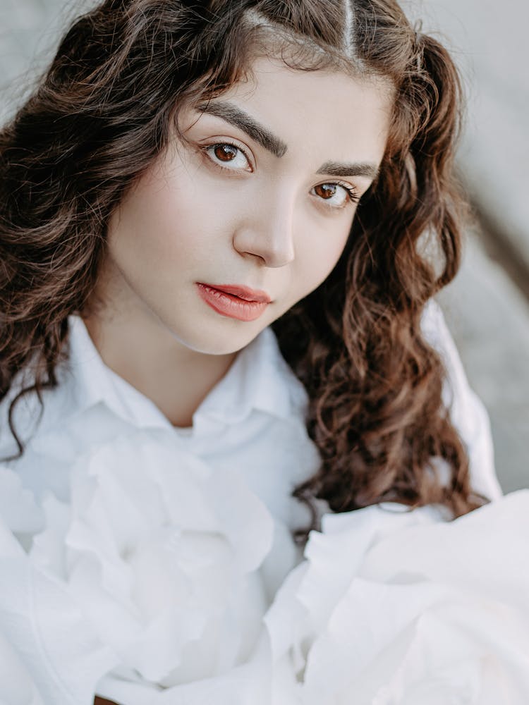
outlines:
[{"label": "blurred pale gray background on both sides of the woman's hair", "polygon": [[[0,0],[0,122],[92,0]],[[439,297],[489,410],[504,491],[529,487],[529,79],[525,0],[403,0],[451,49],[468,94],[459,166],[477,215]]]}]

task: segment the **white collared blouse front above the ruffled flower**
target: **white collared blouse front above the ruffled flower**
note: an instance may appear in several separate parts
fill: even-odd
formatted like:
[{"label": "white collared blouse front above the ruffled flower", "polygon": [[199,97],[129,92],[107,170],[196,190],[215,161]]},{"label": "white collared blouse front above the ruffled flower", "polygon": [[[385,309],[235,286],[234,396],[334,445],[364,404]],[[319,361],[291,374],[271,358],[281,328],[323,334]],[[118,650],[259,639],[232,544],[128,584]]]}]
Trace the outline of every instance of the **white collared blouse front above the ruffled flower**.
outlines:
[{"label": "white collared blouse front above the ruffled flower", "polygon": [[[189,429],[173,427],[150,399],[104,364],[79,317],[70,319],[69,340],[68,364],[59,370],[59,386],[44,391],[38,424],[35,398],[22,400],[14,418],[29,442],[23,457],[9,465],[37,503],[49,491],[68,499],[70,470],[79,455],[145,429],[169,436],[178,449],[215,470],[238,468],[289,528],[305,525],[308,514],[290,495],[315,472],[318,455],[303,422],[305,389],[281,356],[272,330],[241,351]],[[2,407],[0,458],[16,453],[6,427],[6,400]]]}]

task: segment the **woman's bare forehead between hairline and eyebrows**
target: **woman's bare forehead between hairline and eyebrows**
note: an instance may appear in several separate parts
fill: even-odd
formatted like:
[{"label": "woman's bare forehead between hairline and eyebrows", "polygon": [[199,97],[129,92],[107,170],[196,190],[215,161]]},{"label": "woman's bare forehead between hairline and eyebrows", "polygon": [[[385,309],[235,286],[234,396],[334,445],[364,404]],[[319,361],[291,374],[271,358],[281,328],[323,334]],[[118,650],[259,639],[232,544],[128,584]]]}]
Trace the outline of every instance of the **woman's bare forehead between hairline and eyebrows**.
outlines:
[{"label": "woman's bare forehead between hairline and eyebrows", "polygon": [[[286,157],[382,159],[393,101],[389,82],[333,70],[300,71],[259,58],[215,102],[239,107],[286,145]],[[214,110],[212,110],[212,114]]]}]

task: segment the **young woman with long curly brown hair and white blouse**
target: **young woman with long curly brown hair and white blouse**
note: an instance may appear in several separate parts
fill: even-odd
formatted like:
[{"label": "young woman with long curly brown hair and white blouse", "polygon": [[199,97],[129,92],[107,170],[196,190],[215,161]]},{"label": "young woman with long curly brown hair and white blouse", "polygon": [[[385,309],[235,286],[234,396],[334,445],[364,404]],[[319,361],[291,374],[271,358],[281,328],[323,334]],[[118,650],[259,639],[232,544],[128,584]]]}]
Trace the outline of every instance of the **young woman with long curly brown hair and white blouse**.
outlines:
[{"label": "young woman with long curly brown hair and white blouse", "polygon": [[499,494],[430,301],[459,94],[387,0],[68,31],[0,134],[2,633],[35,702],[269,701],[241,684],[306,508]]}]

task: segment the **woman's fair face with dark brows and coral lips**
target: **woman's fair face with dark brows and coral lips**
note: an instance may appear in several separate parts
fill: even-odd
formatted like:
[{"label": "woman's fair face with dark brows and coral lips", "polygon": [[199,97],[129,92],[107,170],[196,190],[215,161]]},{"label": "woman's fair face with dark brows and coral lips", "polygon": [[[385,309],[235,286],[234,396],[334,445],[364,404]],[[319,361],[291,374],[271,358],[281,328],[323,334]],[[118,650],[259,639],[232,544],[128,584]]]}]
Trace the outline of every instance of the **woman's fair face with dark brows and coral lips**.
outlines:
[{"label": "woman's fair face with dark brows and coral lips", "polygon": [[187,348],[240,350],[334,268],[390,113],[381,81],[255,61],[114,212],[107,293]]}]

